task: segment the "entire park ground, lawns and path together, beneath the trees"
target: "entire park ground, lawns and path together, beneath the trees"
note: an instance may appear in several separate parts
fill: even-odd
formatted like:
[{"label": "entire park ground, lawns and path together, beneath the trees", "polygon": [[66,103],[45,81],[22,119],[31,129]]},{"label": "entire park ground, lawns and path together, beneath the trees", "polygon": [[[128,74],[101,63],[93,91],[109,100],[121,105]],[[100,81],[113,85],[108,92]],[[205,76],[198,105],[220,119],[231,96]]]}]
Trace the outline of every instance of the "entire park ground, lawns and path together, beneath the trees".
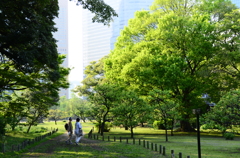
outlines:
[{"label": "entire park ground, lawns and path together, beneath the trees", "polygon": [[[98,135],[97,139],[89,139],[87,137],[88,132],[94,127],[93,123],[82,123],[85,136],[81,139],[79,146],[75,144],[68,145],[65,143],[67,139],[67,133],[64,129],[64,122],[59,121],[57,125],[54,122],[45,122],[39,124],[35,129],[31,130],[31,133],[8,133],[7,146],[11,150],[10,146],[18,144],[25,139],[33,139],[38,135],[42,127],[47,127],[48,131],[58,128],[58,132],[52,136],[44,138],[40,142],[27,146],[26,149],[20,152],[8,152],[5,154],[0,153],[2,158],[67,158],[67,157],[81,157],[81,158],[168,158],[170,157],[171,150],[175,152],[175,158],[178,158],[178,153],[182,153],[182,157],[197,158],[197,137],[196,133],[181,133],[174,132],[174,136],[169,136],[169,141],[165,141],[164,130],[154,130],[149,127],[137,127],[134,129],[136,139],[135,145],[133,140],[130,139],[130,132],[124,128],[116,127],[111,129],[110,132],[106,132],[105,140],[102,141],[102,137],[98,135],[97,131],[93,132],[93,135]],[[37,128],[39,130],[37,130]],[[25,131],[25,129],[23,130]],[[23,138],[24,137],[24,138]],[[110,137],[110,141],[108,141]],[[116,142],[114,141],[116,137]],[[129,142],[126,143],[126,139],[120,142],[119,138],[129,138]],[[154,144],[162,145],[166,147],[166,155],[163,156],[159,151],[153,151],[138,144],[138,140],[141,139],[149,141]],[[74,138],[73,138],[74,141]],[[234,140],[225,140],[221,134],[212,132],[201,133],[201,149],[202,158],[238,158],[240,157],[239,147],[240,137],[237,135]]]}]

